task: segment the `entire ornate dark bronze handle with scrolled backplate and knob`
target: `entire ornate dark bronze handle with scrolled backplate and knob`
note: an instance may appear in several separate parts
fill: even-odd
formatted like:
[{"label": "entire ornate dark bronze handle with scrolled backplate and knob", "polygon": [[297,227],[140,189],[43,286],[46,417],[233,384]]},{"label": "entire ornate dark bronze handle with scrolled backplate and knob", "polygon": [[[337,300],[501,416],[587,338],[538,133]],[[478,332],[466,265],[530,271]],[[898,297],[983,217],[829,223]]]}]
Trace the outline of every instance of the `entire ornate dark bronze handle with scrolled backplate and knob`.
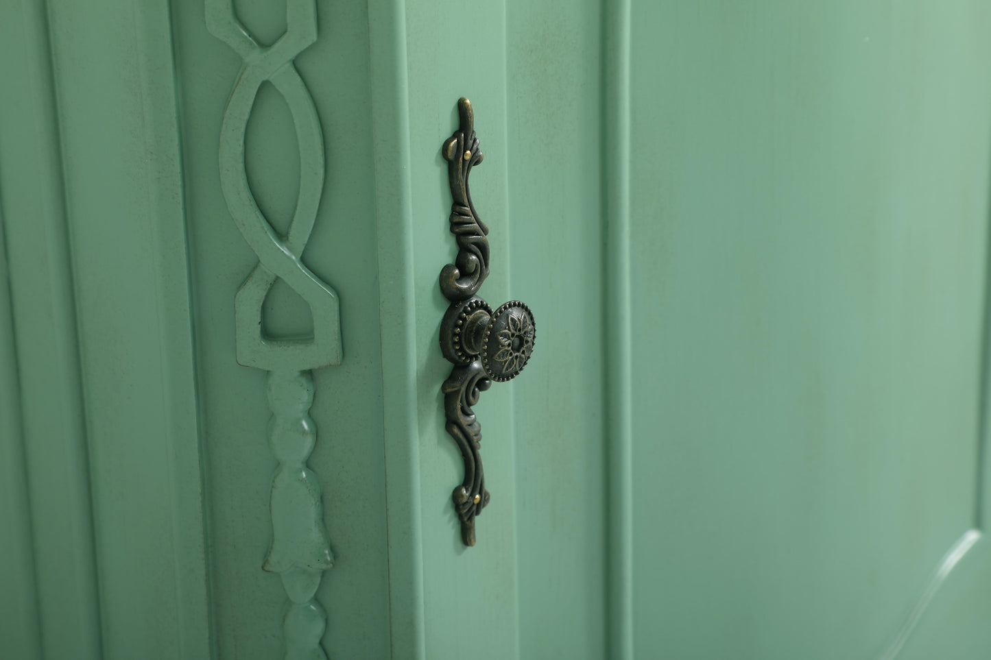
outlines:
[{"label": "entire ornate dark bronze handle with scrolled backplate and knob", "polygon": [[489,276],[489,228],[475,212],[468,174],[482,163],[475,136],[475,113],[467,98],[458,100],[461,126],[444,142],[442,153],[451,179],[451,233],[458,257],[440,272],[440,290],[451,301],[440,324],[440,348],[454,368],[441,386],[447,432],[465,460],[465,480],[454,490],[454,506],[461,518],[461,538],[475,545],[475,516],[489,503],[482,471],[482,425],[472,406],[493,381],[516,377],[530,359],[536,326],[530,308],[512,300],[493,311],[478,297]]}]

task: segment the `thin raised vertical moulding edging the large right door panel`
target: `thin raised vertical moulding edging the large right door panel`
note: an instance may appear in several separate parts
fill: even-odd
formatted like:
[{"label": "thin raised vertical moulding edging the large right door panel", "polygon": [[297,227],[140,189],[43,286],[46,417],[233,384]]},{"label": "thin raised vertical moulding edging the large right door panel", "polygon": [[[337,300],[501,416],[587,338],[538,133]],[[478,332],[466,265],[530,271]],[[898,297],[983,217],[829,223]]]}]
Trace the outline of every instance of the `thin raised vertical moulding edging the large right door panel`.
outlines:
[{"label": "thin raised vertical moulding edging the large right door panel", "polygon": [[604,131],[608,657],[633,657],[633,431],[630,337],[630,3],[605,0]]}]

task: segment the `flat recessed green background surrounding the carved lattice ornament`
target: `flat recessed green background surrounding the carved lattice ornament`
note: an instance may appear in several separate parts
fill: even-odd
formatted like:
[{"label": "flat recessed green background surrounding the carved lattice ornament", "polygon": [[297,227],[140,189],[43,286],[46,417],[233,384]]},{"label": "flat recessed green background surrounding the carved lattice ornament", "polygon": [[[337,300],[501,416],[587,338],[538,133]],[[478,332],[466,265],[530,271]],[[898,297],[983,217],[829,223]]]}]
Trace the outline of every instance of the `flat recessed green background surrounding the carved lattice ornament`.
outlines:
[{"label": "flat recessed green background surrounding the carved lattice ornament", "polygon": [[[318,439],[306,463],[321,486],[334,556],[316,601],[327,614],[322,647],[329,657],[381,658],[389,656],[389,568],[368,8],[357,1],[312,6],[317,37],[294,63],[321,127],[325,175],[301,261],[338,293],[343,346],[340,366],[312,373],[309,415]],[[238,2],[235,11],[262,44],[286,29],[279,3]],[[234,294],[258,258],[225,203],[218,160],[243,62],[208,32],[202,0],[172,3],[172,16],[217,657],[262,660],[283,653],[285,594],[277,574],[262,570],[272,543],[276,462],[264,372],[238,364],[234,341]],[[264,83],[244,160],[251,192],[277,233],[287,231],[301,177],[313,173],[300,165],[299,140],[289,108]],[[266,298],[269,334],[305,336],[317,318],[278,282]]]}]

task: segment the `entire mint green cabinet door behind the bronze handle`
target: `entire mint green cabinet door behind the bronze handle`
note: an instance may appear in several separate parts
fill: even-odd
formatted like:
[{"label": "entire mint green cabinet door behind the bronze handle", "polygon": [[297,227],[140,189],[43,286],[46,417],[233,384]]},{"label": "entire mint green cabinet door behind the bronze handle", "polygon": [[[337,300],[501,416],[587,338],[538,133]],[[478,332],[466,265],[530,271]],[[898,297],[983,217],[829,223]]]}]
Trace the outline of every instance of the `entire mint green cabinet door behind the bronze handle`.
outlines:
[{"label": "entire mint green cabinet door behind the bronze handle", "polygon": [[[466,578],[436,585],[489,530],[516,539],[520,657],[985,655],[987,8],[510,2],[465,58],[432,41],[463,15],[406,10],[413,153],[455,126],[437,97],[473,99],[484,292],[540,337],[511,428],[479,406],[512,490],[479,546],[424,558],[428,648],[454,657],[429,612]],[[423,346],[437,177],[413,169]]]}]

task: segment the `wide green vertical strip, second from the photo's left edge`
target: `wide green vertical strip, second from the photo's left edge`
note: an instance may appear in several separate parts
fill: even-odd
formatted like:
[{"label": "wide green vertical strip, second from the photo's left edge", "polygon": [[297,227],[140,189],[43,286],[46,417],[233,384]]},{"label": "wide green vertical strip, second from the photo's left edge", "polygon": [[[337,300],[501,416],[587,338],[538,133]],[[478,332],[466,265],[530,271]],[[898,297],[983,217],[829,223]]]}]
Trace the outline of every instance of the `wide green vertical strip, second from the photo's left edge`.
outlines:
[{"label": "wide green vertical strip, second from the photo's left edge", "polygon": [[[47,2],[0,16],[0,184],[46,658],[102,656],[89,460]],[[71,548],[66,553],[65,548]]]}]

